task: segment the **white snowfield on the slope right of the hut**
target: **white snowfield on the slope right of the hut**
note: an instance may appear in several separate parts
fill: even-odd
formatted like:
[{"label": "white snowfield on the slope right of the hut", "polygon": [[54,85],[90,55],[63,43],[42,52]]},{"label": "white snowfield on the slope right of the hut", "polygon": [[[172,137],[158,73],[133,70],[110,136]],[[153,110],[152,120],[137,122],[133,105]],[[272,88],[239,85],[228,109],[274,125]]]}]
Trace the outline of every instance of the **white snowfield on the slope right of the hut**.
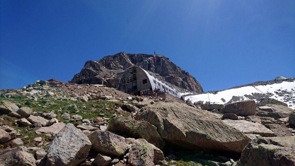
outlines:
[{"label": "white snowfield on the slope right of the hut", "polygon": [[[240,97],[241,100],[248,100],[249,99],[248,97],[250,96],[254,97],[253,95],[257,95],[257,94],[268,95],[270,98],[273,98],[288,104],[289,108],[295,109],[295,81],[293,82],[284,81],[279,84],[247,86],[247,87],[240,87],[235,89],[227,89],[227,90],[220,91],[217,94],[209,93],[209,98],[211,103],[225,104],[229,102],[233,96]],[[222,101],[222,98],[225,100],[225,102]],[[209,102],[207,93],[186,96],[184,99],[185,100],[189,99],[192,102],[198,102],[198,101],[203,101],[203,103]]]}]

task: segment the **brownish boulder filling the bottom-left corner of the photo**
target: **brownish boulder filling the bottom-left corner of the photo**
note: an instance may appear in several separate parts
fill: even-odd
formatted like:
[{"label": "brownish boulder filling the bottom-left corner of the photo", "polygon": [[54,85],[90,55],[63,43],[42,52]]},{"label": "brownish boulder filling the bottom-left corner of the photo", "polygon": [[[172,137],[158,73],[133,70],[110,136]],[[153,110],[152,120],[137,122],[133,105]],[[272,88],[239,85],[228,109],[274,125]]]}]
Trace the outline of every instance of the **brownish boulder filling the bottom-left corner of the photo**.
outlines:
[{"label": "brownish boulder filling the bottom-left corner of the photo", "polygon": [[36,166],[34,156],[24,147],[7,149],[0,153],[0,165],[3,166]]}]

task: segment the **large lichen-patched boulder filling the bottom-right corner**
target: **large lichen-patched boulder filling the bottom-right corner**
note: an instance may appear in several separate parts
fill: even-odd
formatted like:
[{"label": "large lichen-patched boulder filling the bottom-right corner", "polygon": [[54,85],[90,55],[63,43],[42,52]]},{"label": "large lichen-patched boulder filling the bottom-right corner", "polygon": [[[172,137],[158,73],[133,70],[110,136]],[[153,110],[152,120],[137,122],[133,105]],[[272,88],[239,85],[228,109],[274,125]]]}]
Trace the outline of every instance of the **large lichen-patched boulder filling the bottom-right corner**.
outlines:
[{"label": "large lichen-patched boulder filling the bottom-right corner", "polygon": [[294,166],[294,152],[294,136],[254,139],[244,148],[239,166]]}]

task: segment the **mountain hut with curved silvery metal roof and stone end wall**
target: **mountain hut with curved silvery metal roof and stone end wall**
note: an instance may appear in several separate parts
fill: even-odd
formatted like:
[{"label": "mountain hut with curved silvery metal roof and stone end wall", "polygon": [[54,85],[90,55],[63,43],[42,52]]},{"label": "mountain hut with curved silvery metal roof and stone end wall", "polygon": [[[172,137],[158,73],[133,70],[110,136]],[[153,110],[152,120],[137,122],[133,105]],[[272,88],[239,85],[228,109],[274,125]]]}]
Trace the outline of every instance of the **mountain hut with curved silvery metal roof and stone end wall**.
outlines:
[{"label": "mountain hut with curved silvery metal roof and stone end wall", "polygon": [[152,72],[148,72],[139,66],[131,66],[117,74],[116,87],[118,90],[130,95],[146,95],[158,92],[168,92],[180,98],[181,95],[165,81],[158,79]]}]

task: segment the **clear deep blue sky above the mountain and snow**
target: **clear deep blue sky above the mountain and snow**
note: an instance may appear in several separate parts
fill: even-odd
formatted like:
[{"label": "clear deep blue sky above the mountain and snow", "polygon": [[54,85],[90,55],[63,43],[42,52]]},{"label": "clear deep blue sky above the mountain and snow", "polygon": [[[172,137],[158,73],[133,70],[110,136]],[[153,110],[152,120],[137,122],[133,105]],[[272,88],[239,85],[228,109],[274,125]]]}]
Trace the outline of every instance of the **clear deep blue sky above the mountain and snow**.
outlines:
[{"label": "clear deep blue sky above the mountain and snow", "polygon": [[204,91],[295,77],[295,1],[0,1],[0,89],[154,50]]}]

